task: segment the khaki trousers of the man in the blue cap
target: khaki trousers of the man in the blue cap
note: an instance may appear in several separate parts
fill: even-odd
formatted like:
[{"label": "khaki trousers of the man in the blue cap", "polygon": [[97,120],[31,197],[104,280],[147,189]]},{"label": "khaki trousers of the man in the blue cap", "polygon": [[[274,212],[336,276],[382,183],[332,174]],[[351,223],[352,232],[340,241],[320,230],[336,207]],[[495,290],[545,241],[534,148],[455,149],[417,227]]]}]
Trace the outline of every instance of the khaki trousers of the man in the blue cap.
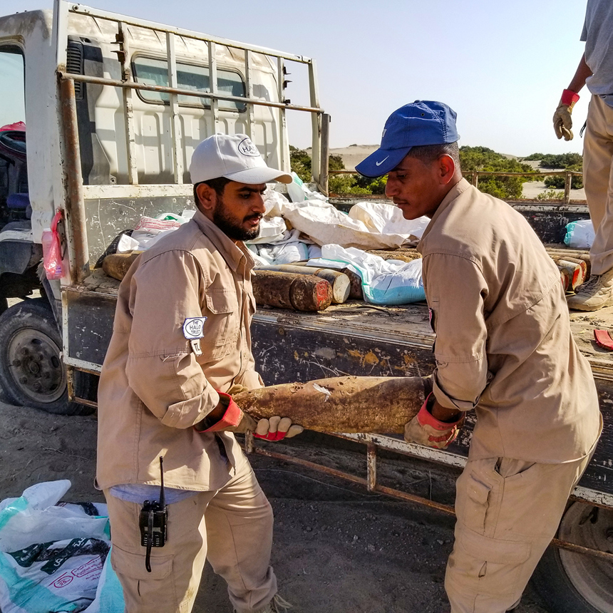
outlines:
[{"label": "khaki trousers of the man in the blue cap", "polygon": [[456,485],[458,521],[445,574],[451,613],[505,613],[519,603],[591,457],[468,461]]}]

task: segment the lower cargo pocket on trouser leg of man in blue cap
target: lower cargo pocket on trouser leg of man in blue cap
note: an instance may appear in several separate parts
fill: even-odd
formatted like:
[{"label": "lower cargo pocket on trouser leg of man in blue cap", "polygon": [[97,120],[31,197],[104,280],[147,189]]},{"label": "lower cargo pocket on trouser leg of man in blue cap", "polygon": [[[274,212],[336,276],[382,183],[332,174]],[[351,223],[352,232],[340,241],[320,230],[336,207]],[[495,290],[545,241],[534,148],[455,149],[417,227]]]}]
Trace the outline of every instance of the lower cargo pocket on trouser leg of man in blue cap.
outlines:
[{"label": "lower cargo pocket on trouser leg of man in blue cap", "polygon": [[493,539],[472,530],[461,530],[456,535],[452,557],[460,575],[468,575],[478,582],[481,594],[512,594],[524,587],[518,582],[522,578],[522,565],[530,557],[530,543]]}]

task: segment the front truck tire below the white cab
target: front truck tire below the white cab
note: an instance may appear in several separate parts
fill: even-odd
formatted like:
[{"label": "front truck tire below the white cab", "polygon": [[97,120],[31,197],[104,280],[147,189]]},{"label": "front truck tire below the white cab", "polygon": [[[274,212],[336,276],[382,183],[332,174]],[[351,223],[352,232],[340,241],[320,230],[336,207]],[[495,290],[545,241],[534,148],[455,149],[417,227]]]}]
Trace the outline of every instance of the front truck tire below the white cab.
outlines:
[{"label": "front truck tire below the white cab", "polygon": [[[0,316],[0,386],[10,402],[56,415],[89,415],[96,409],[68,402],[62,341],[51,305],[24,300]],[[78,396],[87,398],[92,376],[76,372]]]}]

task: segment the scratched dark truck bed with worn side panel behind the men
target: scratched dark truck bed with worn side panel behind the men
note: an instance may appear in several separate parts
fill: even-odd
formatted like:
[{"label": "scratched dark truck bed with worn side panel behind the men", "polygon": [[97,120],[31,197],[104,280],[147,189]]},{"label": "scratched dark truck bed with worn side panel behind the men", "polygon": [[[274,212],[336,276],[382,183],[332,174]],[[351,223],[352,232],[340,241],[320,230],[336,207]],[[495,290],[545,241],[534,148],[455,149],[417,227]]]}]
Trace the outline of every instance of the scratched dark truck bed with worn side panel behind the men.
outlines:
[{"label": "scratched dark truck bed with worn side panel behind the men", "polygon": [[[97,269],[66,292],[68,346],[78,359],[102,364],[119,282]],[[93,313],[95,315],[93,316]],[[92,331],[91,322],[97,322]],[[594,342],[594,328],[613,330],[613,306],[594,313],[570,312],[572,334],[592,366],[604,431],[581,485],[613,494],[613,351]],[[427,376],[434,368],[434,334],[425,302],[375,306],[359,301],[319,313],[259,307],[252,324],[253,353],[267,385],[344,374]],[[468,454],[474,414],[450,452]]]}]

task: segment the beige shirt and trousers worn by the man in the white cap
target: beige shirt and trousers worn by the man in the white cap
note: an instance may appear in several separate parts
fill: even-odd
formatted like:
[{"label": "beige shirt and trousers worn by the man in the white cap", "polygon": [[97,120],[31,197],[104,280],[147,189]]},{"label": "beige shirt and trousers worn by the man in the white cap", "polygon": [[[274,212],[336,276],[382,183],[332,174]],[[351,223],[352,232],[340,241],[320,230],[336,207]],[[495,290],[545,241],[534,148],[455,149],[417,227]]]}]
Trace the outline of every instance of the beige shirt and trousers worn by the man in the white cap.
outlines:
[{"label": "beige shirt and trousers worn by the man in the white cap", "polygon": [[[200,212],[144,252],[120,285],[113,337],[98,391],[97,480],[108,498],[112,562],[126,610],[189,612],[208,556],[238,612],[277,591],[269,565],[272,510],[231,433],[192,426],[233,383],[262,386],[249,324],[255,310],[252,258]],[[197,356],[182,326],[205,317]],[[113,485],[200,492],[169,505],[168,542],[145,570],[140,505]]]}]

